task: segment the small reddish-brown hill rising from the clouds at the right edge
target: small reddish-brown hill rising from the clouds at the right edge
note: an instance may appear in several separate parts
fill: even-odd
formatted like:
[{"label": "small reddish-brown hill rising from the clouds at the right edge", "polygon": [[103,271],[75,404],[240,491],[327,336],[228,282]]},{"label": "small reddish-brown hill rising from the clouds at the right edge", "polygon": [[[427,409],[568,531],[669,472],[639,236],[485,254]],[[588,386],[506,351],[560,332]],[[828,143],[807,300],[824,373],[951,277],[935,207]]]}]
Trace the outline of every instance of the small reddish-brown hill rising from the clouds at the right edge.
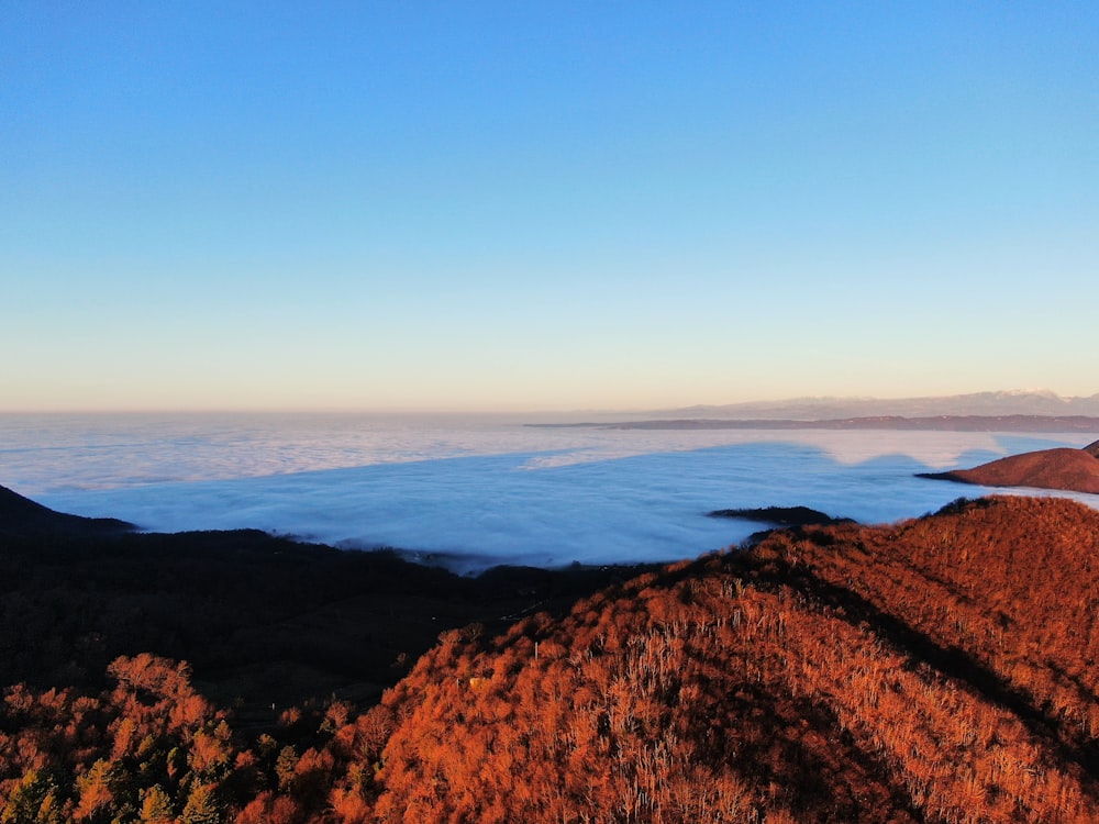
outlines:
[{"label": "small reddish-brown hill rising from the clouds at the right edge", "polygon": [[1034,487],[1099,494],[1099,446],[1058,448],[1009,455],[973,469],[923,474],[923,478],[983,487]]}]

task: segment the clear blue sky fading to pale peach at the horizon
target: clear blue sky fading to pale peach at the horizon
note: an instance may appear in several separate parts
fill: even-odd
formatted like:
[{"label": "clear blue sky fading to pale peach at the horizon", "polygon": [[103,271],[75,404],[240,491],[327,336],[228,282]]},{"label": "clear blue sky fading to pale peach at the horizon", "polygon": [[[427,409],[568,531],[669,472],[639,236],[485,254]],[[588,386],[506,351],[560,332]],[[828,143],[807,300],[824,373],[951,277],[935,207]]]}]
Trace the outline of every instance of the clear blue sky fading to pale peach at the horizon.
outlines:
[{"label": "clear blue sky fading to pale peach at the horizon", "polygon": [[1099,3],[0,3],[0,410],[1099,392]]}]

